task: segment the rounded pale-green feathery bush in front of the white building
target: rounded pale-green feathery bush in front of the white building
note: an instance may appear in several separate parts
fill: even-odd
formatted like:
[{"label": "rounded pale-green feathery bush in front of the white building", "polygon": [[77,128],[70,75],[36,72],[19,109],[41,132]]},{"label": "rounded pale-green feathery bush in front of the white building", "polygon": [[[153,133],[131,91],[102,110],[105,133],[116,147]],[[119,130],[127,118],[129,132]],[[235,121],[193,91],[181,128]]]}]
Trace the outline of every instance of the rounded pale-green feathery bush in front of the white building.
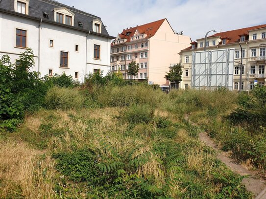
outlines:
[{"label": "rounded pale-green feathery bush in front of the white building", "polygon": [[85,97],[77,89],[50,88],[45,97],[45,105],[48,109],[78,109],[84,104]]}]

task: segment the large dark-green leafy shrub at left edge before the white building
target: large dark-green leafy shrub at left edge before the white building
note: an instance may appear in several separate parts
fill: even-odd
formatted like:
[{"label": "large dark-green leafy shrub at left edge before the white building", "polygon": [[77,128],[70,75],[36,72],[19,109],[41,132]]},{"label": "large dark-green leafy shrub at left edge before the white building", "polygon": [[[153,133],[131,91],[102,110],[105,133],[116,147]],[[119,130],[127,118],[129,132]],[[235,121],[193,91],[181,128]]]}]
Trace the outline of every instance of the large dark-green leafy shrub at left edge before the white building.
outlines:
[{"label": "large dark-green leafy shrub at left edge before the white building", "polygon": [[33,57],[33,51],[29,48],[20,54],[16,64],[11,64],[8,56],[2,57],[0,120],[22,118],[24,111],[35,111],[43,105],[48,87],[38,72],[30,72],[34,66]]}]

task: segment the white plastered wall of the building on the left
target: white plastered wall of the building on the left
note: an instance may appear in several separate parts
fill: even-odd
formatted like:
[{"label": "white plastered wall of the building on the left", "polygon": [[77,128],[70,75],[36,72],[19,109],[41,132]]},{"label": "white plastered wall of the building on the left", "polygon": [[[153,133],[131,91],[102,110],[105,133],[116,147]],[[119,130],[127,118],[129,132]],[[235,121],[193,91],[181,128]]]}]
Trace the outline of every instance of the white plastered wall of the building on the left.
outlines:
[{"label": "white plastered wall of the building on the left", "polygon": [[[39,22],[0,13],[0,53],[8,54],[12,63],[25,48],[16,47],[16,28],[27,31],[27,47],[32,48],[35,55],[34,71],[41,76],[53,73],[72,75],[78,72],[78,80],[83,81],[86,74],[100,69],[106,75],[110,71],[111,40],[97,35],[41,22],[40,29],[40,66],[38,67]],[[53,47],[49,41],[53,40]],[[87,42],[86,42],[87,40]],[[87,58],[86,58],[87,43]],[[100,59],[94,59],[94,44],[100,45]],[[78,52],[75,51],[78,45]],[[60,67],[60,52],[68,52],[68,68]],[[86,71],[87,69],[87,71]]]}]

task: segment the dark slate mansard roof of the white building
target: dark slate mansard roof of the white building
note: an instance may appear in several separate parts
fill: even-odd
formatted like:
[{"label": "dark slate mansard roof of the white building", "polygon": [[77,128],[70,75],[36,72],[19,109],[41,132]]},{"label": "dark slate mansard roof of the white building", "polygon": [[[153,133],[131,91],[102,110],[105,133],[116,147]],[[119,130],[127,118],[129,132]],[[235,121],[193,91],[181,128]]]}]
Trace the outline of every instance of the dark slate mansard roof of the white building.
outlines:
[{"label": "dark slate mansard roof of the white building", "polygon": [[[59,3],[54,0],[29,0],[28,15],[31,17],[36,17],[40,19],[43,18],[44,21],[48,20],[48,21],[54,22],[53,10],[54,8],[60,8],[60,7],[66,7],[67,9],[69,9],[71,12],[75,14],[73,26],[76,28],[93,31],[92,21],[94,19],[98,19],[99,21],[101,21],[101,19],[95,15],[83,12],[81,10],[75,9],[73,7]],[[0,0],[0,8],[14,11],[14,0]],[[44,18],[43,12],[48,13],[48,19]],[[78,22],[82,22],[83,27],[79,27]],[[109,36],[103,23],[101,25],[101,34]]]}]

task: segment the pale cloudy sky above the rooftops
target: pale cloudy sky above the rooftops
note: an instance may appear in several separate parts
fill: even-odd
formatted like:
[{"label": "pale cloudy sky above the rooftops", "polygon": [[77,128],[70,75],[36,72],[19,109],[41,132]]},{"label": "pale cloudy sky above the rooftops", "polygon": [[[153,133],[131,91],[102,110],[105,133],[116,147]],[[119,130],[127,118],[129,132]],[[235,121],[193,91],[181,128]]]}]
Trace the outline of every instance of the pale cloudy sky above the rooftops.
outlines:
[{"label": "pale cloudy sky above the rooftops", "polygon": [[[225,32],[266,24],[266,0],[57,0],[101,18],[111,36],[127,27],[167,18],[192,41],[209,30]],[[211,33],[209,36],[212,35]]]}]

